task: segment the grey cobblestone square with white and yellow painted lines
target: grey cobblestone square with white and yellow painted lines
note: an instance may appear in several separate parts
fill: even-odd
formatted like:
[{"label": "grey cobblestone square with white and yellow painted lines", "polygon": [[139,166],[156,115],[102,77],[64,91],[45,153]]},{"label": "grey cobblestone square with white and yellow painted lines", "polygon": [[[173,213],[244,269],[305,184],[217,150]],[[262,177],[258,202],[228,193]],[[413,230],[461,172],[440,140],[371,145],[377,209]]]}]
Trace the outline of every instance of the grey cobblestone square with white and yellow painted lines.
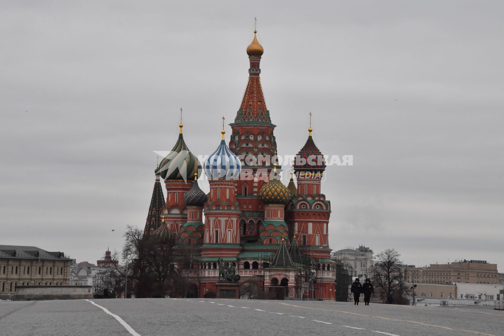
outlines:
[{"label": "grey cobblestone square with white and yellow painted lines", "polygon": [[479,306],[226,299],[91,301],[99,306],[87,300],[0,302],[0,335],[504,336],[504,311]]}]

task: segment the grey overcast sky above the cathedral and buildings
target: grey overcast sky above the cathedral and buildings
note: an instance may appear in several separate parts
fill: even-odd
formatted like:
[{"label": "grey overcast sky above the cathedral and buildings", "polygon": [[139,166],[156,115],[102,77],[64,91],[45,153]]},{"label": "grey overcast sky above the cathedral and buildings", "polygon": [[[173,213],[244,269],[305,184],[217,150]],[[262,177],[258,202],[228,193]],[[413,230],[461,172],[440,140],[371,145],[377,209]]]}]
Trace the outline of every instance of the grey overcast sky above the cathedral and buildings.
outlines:
[{"label": "grey overcast sky above the cathedral and buildings", "polygon": [[[313,113],[330,247],[503,271],[502,2],[0,3],[0,243],[95,262],[143,227],[184,108],[210,154],[258,17],[279,155]],[[230,128],[227,127],[229,131]],[[208,190],[208,186],[207,190]],[[111,231],[114,229],[115,231]]]}]

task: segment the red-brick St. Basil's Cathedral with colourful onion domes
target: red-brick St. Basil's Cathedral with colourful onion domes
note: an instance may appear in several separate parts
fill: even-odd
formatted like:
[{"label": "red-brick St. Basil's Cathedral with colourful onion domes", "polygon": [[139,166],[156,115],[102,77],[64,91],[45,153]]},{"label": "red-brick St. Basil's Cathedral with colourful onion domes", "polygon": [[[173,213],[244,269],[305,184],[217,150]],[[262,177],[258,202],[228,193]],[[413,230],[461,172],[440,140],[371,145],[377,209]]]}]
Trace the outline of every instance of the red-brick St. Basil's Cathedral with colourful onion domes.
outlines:
[{"label": "red-brick St. Basil's Cathedral with colourful onion domes", "polygon": [[[254,282],[273,297],[334,300],[336,264],[330,259],[328,240],[331,203],[321,190],[326,163],[310,126],[289,184],[280,181],[276,125],[260,79],[264,48],[256,33],[246,49],[248,82],[229,124],[228,142],[223,129],[217,149],[201,164],[185,144],[180,123],[175,146],[155,170],[145,235],[160,241],[175,235],[174,248],[191,248],[191,266],[198,273],[196,297],[215,293],[217,261],[222,257],[235,266],[240,283]],[[270,157],[274,159],[265,159]],[[202,171],[210,184],[208,194],[198,185]]]}]

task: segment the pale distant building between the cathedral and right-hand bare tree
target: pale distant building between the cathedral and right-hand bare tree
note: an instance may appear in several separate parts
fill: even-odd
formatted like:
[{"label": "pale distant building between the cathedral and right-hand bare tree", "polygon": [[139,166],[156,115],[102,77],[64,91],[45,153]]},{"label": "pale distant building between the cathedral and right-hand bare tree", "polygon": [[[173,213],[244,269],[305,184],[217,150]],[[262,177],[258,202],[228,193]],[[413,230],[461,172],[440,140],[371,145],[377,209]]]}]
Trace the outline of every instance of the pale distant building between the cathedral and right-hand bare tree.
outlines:
[{"label": "pale distant building between the cathedral and right-hand bare tree", "polygon": [[331,259],[340,262],[351,277],[366,278],[374,265],[373,250],[364,245],[333,252]]}]

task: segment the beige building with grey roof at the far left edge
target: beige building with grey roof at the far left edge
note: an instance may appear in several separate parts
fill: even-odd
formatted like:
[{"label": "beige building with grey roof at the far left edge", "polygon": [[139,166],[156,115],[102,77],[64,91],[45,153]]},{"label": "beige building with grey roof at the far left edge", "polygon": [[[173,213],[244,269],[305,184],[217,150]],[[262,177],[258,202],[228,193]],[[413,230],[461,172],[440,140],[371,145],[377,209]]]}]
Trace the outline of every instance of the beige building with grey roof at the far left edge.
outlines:
[{"label": "beige building with grey roof at the far left edge", "polygon": [[20,286],[69,285],[71,264],[63,252],[0,245],[0,293],[15,294]]}]

